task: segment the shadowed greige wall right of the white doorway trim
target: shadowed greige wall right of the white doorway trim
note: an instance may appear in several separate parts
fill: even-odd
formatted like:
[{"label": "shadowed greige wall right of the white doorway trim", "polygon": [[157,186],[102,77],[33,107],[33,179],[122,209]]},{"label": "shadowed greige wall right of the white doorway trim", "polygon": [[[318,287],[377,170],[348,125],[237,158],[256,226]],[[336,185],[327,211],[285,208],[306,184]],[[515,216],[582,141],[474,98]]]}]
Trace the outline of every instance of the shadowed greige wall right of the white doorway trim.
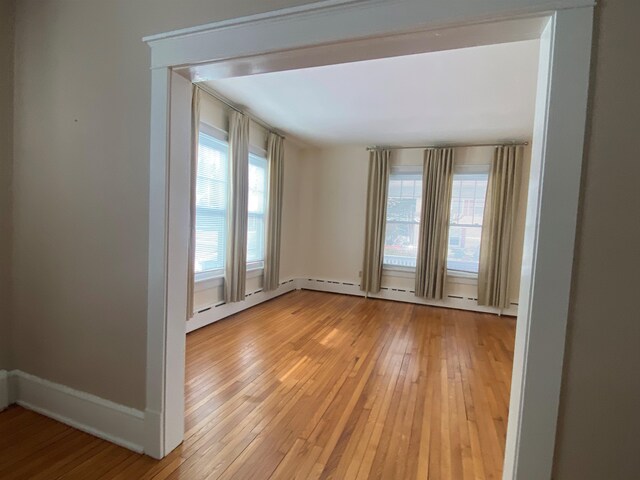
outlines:
[{"label": "shadowed greige wall right of the white doorway trim", "polygon": [[557,479],[640,478],[640,2],[598,2]]}]

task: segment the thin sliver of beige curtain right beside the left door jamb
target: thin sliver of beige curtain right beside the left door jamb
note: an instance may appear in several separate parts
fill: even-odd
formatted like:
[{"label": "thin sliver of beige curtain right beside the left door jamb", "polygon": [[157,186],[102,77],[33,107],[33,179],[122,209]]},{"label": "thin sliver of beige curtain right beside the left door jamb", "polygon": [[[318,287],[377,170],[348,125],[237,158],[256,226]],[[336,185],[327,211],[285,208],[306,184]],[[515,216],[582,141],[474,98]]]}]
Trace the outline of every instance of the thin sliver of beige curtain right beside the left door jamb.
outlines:
[{"label": "thin sliver of beige curtain right beside the left door jamb", "polygon": [[193,86],[191,95],[191,175],[189,185],[189,251],[187,261],[187,318],[193,317],[196,263],[196,182],[198,176],[198,138],[200,135],[200,89]]}]

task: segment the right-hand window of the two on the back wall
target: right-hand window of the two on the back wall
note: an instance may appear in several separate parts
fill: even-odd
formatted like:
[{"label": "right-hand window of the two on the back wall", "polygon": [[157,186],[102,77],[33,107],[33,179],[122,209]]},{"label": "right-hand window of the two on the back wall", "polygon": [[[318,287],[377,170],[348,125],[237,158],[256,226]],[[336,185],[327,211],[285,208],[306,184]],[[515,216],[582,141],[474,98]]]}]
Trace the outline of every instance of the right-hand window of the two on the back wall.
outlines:
[{"label": "right-hand window of the two on the back wall", "polygon": [[447,269],[478,273],[480,237],[488,173],[456,173],[453,176],[449,217]]}]

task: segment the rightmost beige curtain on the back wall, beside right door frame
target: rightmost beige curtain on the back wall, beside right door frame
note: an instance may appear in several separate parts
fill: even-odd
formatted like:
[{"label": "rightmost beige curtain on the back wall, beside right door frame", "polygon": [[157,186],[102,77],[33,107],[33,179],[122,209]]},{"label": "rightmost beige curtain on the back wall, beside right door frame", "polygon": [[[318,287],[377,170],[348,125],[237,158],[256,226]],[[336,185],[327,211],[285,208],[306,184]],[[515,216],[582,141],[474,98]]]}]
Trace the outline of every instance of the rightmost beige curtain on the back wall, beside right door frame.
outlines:
[{"label": "rightmost beige curtain on the back wall, beside right door frame", "polygon": [[518,207],[522,147],[496,147],[485,200],[478,305],[509,306],[509,269],[513,225]]}]

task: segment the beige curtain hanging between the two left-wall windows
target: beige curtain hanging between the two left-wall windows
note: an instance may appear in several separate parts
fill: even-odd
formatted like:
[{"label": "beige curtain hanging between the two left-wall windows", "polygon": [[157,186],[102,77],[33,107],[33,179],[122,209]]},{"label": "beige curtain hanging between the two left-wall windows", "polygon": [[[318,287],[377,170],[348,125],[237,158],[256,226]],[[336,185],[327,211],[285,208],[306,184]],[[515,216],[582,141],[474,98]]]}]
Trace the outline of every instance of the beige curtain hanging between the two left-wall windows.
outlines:
[{"label": "beige curtain hanging between the two left-wall windows", "polygon": [[227,255],[224,300],[245,298],[247,276],[247,215],[249,199],[249,117],[229,115],[229,180],[227,182]]}]

